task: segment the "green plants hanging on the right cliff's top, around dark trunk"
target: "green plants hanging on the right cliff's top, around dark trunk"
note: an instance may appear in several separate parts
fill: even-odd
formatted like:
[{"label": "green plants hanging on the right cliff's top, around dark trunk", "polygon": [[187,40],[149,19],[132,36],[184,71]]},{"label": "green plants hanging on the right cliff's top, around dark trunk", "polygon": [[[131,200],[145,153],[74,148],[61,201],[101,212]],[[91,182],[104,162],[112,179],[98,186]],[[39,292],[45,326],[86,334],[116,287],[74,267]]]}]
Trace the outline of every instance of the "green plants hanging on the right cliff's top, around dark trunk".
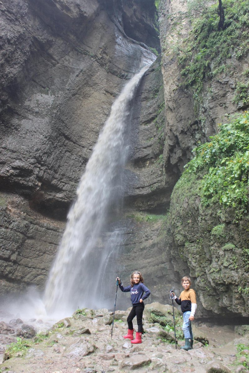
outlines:
[{"label": "green plants hanging on the right cliff's top, around dark trunk", "polygon": [[189,16],[193,29],[178,49],[184,84],[192,87],[197,98],[203,81],[231,69],[227,59],[237,59],[249,51],[249,0],[223,0],[224,29],[219,30],[218,4],[206,5],[203,0],[189,1]]}]

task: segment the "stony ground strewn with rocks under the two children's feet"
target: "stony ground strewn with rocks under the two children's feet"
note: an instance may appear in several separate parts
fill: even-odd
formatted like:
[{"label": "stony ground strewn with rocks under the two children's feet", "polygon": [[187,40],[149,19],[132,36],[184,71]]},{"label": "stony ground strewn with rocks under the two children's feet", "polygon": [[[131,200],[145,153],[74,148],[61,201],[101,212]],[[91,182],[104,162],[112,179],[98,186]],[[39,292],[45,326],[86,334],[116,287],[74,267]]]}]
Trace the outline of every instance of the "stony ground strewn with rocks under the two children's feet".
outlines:
[{"label": "stony ground strewn with rocks under the two children's feet", "polygon": [[[184,351],[180,350],[182,340],[178,341],[175,348],[171,327],[172,307],[159,303],[146,304],[143,343],[132,345],[122,337],[127,331],[128,312],[129,309],[116,311],[112,338],[113,313],[107,309],[78,310],[72,317],[60,320],[47,332],[33,337],[34,330],[27,325],[23,326],[21,319],[12,320],[9,324],[1,322],[1,351],[7,360],[0,365],[0,372],[249,372],[246,368],[249,334],[237,334],[234,326],[194,323],[193,350]],[[34,320],[30,324],[32,322]],[[178,310],[175,310],[175,322],[177,335],[180,336],[181,314]],[[136,329],[136,323],[134,326]],[[242,328],[237,327],[235,330],[241,333]],[[18,335],[19,348],[17,345],[15,348],[12,345],[9,350],[4,347],[4,344],[16,340]],[[29,338],[23,338],[22,335]],[[243,347],[238,357],[239,344]],[[10,356],[13,357],[8,358]]]}]

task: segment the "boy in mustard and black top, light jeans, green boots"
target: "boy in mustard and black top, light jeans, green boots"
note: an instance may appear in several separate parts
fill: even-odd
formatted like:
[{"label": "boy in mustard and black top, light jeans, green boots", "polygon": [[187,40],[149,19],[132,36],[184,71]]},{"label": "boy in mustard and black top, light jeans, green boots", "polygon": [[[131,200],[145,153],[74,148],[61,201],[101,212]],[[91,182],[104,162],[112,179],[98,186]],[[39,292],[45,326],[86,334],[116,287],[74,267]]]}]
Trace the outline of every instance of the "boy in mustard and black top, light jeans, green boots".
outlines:
[{"label": "boy in mustard and black top, light jeans, green boots", "polygon": [[197,308],[196,304],[196,294],[194,289],[190,289],[191,280],[188,276],[184,276],[181,279],[181,285],[183,286],[183,291],[180,297],[174,296],[174,300],[177,304],[181,305],[181,311],[183,312],[183,333],[185,338],[185,345],[181,347],[183,350],[192,350],[193,348],[193,333],[191,322],[194,320],[194,313]]}]

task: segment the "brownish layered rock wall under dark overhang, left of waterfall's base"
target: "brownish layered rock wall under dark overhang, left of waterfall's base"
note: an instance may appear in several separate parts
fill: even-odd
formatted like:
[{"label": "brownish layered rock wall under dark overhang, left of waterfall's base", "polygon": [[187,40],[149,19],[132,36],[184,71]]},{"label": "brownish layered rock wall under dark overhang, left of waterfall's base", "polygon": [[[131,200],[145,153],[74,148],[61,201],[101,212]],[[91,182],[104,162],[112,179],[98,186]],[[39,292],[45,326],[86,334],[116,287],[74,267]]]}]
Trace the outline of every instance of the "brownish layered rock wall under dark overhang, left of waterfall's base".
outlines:
[{"label": "brownish layered rock wall under dark overhang, left of waterfall's base", "polygon": [[35,212],[16,194],[0,192],[0,202],[0,295],[18,297],[30,284],[44,287],[64,223]]}]

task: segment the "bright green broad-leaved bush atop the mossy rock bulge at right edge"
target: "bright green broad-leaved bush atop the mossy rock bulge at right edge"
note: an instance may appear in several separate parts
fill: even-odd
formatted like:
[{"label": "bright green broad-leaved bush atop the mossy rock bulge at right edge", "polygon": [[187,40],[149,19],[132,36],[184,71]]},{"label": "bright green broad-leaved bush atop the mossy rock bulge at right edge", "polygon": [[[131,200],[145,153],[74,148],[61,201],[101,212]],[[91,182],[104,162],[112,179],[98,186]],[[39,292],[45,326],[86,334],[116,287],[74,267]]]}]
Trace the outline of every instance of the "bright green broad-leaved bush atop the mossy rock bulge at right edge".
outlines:
[{"label": "bright green broad-leaved bush atop the mossy rock bulge at right edge", "polygon": [[210,140],[193,150],[196,156],[186,165],[183,182],[184,174],[204,174],[199,187],[203,206],[231,207],[239,220],[248,212],[249,113],[220,124]]}]

